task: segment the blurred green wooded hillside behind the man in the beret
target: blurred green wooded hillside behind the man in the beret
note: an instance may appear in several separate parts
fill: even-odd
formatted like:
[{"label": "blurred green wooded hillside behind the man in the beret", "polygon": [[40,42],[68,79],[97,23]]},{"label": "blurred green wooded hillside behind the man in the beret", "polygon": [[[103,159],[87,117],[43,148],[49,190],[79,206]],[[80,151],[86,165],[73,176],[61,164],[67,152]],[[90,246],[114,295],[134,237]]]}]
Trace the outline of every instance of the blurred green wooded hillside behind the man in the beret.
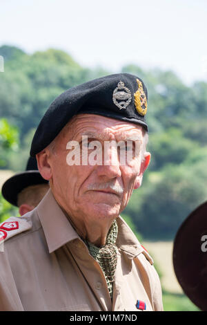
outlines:
[{"label": "blurred green wooded hillside behind the man in the beret", "polygon": [[[1,46],[1,169],[22,171],[30,142],[49,104],[66,89],[110,74],[80,66],[57,49],[25,53]],[[173,71],[144,70],[134,64],[121,71],[141,77],[148,88],[149,143],[152,154],[143,185],[132,194],[124,215],[144,241],[173,240],[188,214],[207,198],[207,83],[186,86]],[[17,210],[0,196],[0,219]]]}]

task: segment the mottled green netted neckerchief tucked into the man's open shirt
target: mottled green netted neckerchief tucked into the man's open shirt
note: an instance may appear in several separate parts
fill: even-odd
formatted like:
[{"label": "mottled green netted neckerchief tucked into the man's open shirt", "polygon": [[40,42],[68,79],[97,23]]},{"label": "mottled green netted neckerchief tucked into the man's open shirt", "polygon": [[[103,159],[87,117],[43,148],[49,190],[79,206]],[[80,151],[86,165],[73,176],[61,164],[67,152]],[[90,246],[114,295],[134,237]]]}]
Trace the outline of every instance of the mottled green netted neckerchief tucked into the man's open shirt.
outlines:
[{"label": "mottled green netted neckerchief tucked into the man's open shirt", "polygon": [[112,282],[115,278],[117,267],[117,246],[115,245],[118,234],[117,221],[113,221],[106,238],[106,245],[100,248],[86,241],[88,250],[92,257],[99,263],[103,274],[106,277],[106,283],[112,299]]}]

